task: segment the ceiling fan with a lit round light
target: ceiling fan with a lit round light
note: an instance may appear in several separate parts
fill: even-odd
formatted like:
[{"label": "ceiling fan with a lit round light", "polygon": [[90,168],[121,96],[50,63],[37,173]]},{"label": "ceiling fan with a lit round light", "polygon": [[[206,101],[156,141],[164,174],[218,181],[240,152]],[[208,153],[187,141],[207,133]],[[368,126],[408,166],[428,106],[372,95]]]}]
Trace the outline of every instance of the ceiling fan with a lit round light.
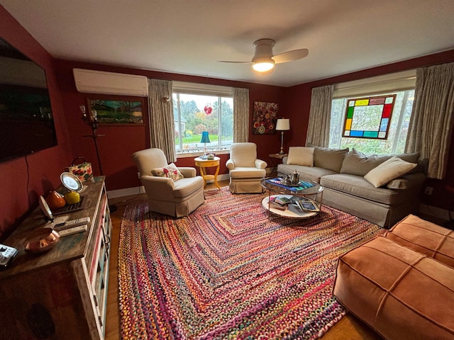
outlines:
[{"label": "ceiling fan with a lit round light", "polygon": [[[254,48],[255,53],[253,59],[250,62],[233,62],[233,63],[252,63],[253,69],[260,74],[269,74],[273,71],[275,64],[281,64],[282,62],[293,62],[309,55],[309,50],[301,48],[300,50],[292,50],[279,55],[273,55],[272,47],[275,45],[275,40],[272,39],[259,39],[255,40]],[[221,60],[220,62],[231,62],[227,60]]]}]

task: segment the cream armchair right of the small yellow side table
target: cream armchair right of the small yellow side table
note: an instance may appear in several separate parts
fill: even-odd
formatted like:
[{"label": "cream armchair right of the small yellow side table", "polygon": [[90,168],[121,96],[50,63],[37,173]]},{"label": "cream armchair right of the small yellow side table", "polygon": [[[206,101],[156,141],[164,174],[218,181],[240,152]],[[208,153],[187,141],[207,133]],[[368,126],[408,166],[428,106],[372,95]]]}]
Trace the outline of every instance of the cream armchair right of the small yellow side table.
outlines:
[{"label": "cream armchair right of the small yellow side table", "polygon": [[266,176],[267,163],[257,159],[255,143],[233,143],[226,162],[232,193],[262,193],[260,181]]}]

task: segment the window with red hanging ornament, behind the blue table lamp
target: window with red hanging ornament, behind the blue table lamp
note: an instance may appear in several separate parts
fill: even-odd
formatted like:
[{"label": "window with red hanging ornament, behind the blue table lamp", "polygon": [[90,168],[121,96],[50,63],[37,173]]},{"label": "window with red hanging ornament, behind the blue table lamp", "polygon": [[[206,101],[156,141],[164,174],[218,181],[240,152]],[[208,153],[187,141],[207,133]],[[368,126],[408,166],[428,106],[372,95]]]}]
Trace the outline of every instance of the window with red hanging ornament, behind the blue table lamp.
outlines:
[{"label": "window with red hanging ornament, behind the blue table lamp", "polygon": [[[174,81],[173,113],[177,154],[229,149],[233,143],[232,89]],[[201,132],[209,142],[201,142]]]}]

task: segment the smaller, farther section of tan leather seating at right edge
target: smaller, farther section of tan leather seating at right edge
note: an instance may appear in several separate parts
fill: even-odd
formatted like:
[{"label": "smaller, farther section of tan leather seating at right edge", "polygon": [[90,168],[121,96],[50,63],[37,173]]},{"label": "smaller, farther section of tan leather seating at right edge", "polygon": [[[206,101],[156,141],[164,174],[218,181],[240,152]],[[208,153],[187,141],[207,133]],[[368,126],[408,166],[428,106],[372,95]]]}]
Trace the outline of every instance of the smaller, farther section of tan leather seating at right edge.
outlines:
[{"label": "smaller, farther section of tan leather seating at right edge", "polygon": [[408,215],[389,229],[386,237],[454,268],[453,230]]}]

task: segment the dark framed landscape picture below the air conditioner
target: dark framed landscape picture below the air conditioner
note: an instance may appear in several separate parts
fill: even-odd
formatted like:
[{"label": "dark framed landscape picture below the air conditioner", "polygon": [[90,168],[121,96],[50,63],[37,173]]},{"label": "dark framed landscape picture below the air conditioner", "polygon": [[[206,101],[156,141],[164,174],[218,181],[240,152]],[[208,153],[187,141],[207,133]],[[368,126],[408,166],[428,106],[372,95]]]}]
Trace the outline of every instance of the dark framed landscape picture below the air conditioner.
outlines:
[{"label": "dark framed landscape picture below the air conditioner", "polygon": [[143,124],[142,101],[88,99],[89,111],[96,111],[100,124]]}]

